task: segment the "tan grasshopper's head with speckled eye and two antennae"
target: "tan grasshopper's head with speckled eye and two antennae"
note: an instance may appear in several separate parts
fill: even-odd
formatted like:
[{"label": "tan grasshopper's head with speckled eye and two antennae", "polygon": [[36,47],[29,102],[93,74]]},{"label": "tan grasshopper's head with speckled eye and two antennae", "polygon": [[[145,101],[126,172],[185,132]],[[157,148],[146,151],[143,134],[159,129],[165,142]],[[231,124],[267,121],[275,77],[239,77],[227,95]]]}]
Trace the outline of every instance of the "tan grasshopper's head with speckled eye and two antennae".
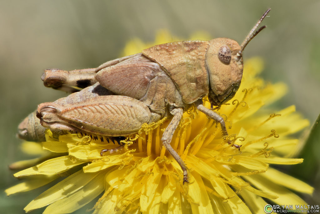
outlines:
[{"label": "tan grasshopper's head with speckled eye and two antennae", "polygon": [[220,106],[236,94],[242,79],[242,52],[251,39],[266,27],[262,26],[254,32],[269,11],[270,9],[261,16],[241,45],[229,38],[216,38],[209,41],[206,66],[211,87],[209,100],[212,105]]}]

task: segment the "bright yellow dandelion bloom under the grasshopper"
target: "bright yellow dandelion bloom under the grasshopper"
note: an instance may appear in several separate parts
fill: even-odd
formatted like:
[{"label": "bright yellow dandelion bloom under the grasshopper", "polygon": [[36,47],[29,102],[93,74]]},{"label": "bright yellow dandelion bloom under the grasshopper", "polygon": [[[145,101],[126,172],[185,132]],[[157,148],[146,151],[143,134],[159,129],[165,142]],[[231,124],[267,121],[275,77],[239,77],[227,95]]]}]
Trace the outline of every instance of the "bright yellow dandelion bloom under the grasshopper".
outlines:
[{"label": "bright yellow dandelion bloom under the grasshopper", "polygon": [[[199,35],[195,37],[209,39]],[[172,40],[181,39],[160,31],[155,44]],[[135,39],[127,44],[124,55],[152,45]],[[47,130],[42,144],[25,143],[35,151],[45,151],[41,162],[14,174],[29,179],[6,193],[35,189],[67,175],[31,201],[25,211],[47,206],[44,213],[70,213],[92,200],[97,201],[93,213],[259,213],[266,199],[274,204],[304,205],[294,192],[311,194],[313,188],[270,164],[303,161],[292,158],[300,143],[291,135],[309,122],[295,113],[294,106],[280,111],[265,108],[284,95],[286,86],[258,78],[262,68],[260,58],[247,60],[240,89],[218,110],[225,118],[228,139],[242,145],[240,151],[226,143],[220,125],[212,119],[193,109],[184,113],[171,144],[188,167],[189,184],[182,184],[180,166],[161,143],[168,125],[163,119],[143,126],[136,139],[122,141],[122,149],[103,157],[102,149],[118,145],[80,134],[55,139]],[[206,105],[210,107],[209,102]],[[35,161],[39,160],[14,166]]]}]

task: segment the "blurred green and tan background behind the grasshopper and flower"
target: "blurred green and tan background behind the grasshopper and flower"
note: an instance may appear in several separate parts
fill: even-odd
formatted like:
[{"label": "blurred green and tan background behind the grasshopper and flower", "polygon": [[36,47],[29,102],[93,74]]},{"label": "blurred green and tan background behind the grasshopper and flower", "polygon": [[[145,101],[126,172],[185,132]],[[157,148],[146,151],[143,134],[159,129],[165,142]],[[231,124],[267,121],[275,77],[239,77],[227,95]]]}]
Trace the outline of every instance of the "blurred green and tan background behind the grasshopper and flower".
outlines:
[{"label": "blurred green and tan background behind the grasshopper and flower", "polygon": [[[313,124],[320,112],[320,1],[2,0],[2,213],[24,213],[23,207],[47,188],[10,197],[3,193],[5,188],[17,183],[7,166],[27,158],[20,152],[21,141],[15,137],[18,124],[37,104],[66,96],[43,86],[44,69],[97,67],[118,58],[125,43],[134,37],[153,41],[159,29],[168,29],[172,35],[182,38],[201,30],[212,38],[229,37],[241,43],[269,7],[269,17],[263,21],[268,28],[246,47],[244,63],[250,57],[262,57],[265,60],[262,76],[270,82],[283,81],[289,86],[288,94],[277,102],[279,107],[294,104]],[[316,186],[314,196],[305,198],[310,204],[320,203],[316,152],[319,146],[308,144],[303,153],[308,159],[305,161],[308,164],[302,165],[304,172],[290,169],[295,177]],[[39,212],[42,210],[33,213]]]}]

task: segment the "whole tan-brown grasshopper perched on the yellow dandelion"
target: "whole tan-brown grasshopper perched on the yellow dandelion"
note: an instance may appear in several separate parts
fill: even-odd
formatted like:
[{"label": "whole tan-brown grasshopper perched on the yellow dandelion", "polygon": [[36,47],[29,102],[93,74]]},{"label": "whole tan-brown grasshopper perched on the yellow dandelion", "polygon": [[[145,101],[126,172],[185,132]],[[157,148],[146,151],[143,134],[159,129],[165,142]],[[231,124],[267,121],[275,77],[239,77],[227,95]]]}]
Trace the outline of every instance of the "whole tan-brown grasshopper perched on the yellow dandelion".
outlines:
[{"label": "whole tan-brown grasshopper perched on the yellow dandelion", "polygon": [[[43,132],[43,127],[97,136],[128,136],[137,133],[143,123],[172,117],[161,140],[179,163],[183,183],[188,182],[187,167],[170,145],[173,133],[183,112],[195,105],[220,123],[223,135],[228,135],[223,118],[204,107],[202,99],[208,96],[211,106],[220,107],[235,95],[243,73],[242,52],[266,27],[254,32],[269,11],[241,45],[229,38],[173,42],[106,62],[96,69],[45,70],[45,86],[67,92],[84,89],[53,103],[40,104],[19,125],[19,136],[37,138],[40,135],[34,133]],[[35,116],[40,122],[34,122]]]}]

